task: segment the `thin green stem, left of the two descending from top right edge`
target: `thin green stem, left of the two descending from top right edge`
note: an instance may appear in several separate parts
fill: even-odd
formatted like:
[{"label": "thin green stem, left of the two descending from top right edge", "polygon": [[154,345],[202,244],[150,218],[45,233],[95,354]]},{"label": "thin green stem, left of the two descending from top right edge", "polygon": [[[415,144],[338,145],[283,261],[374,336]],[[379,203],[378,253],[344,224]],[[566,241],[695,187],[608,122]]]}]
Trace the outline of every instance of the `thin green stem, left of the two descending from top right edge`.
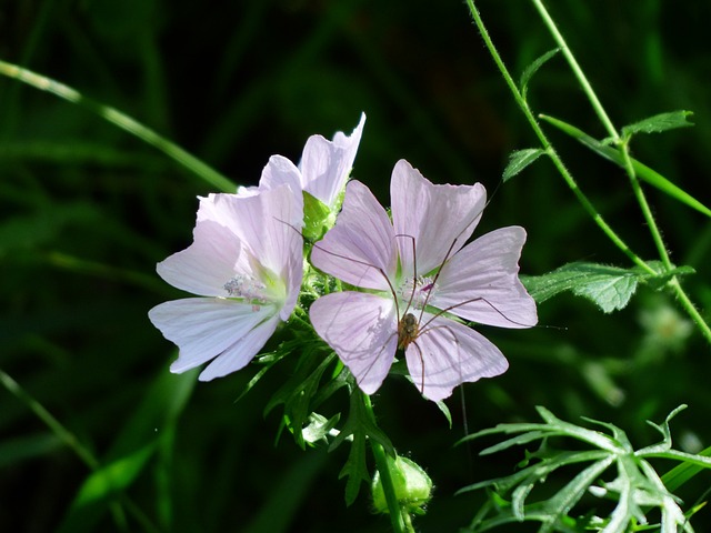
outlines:
[{"label": "thin green stem, left of the two descending from top right edge", "polygon": [[513,78],[509,73],[509,70],[507,69],[505,64],[503,63],[503,60],[501,59],[501,56],[499,56],[499,52],[498,52],[495,46],[493,44],[493,41],[489,37],[489,32],[487,31],[487,27],[484,26],[483,20],[481,19],[481,16],[479,14],[479,11],[474,7],[474,0],[467,0],[467,4],[469,6],[469,10],[471,12],[471,16],[474,19],[474,23],[477,24],[477,28],[479,29],[479,32],[481,33],[481,37],[484,40],[484,44],[489,49],[489,53],[491,54],[491,57],[493,58],[494,63],[499,68],[499,71],[501,72],[501,76],[503,77],[504,81],[509,86],[509,89],[511,90],[511,93],[513,94],[513,98],[514,98],[515,102],[518,103],[519,108],[523,112],[523,115],[525,117],[525,119],[528,120],[529,124],[533,129],[533,132],[535,133],[535,137],[538,137],[539,141],[541,142],[541,145],[545,150],[545,153],[548,153],[549,158],[553,162],[553,165],[558,169],[560,174],[563,177],[563,180],[565,180],[565,183],[568,183],[568,187],[573,191],[573,194],[575,194],[575,198],[578,199],[578,201],[582,204],[583,209],[590,214],[590,217],[594,220],[594,222],[603,231],[603,233],[605,235],[608,235],[608,238],[628,258],[630,258],[630,260],[634,264],[637,264],[640,268],[644,269],[649,273],[654,273],[654,271],[641,258],[639,258],[632,251],[632,249],[630,249],[630,247],[628,247],[628,244],[622,240],[622,238],[620,235],[618,235],[614,232],[614,230],[612,230],[612,228],[610,225],[608,225],[608,223],[603,220],[602,215],[594,208],[592,202],[580,190],[580,188],[578,187],[578,183],[573,179],[572,174],[568,171],[568,169],[563,164],[563,161],[558,155],[558,152],[555,152],[555,149],[553,148],[551,142],[548,140],[548,137],[545,135],[545,133],[541,129],[540,124],[535,120],[535,117],[533,117],[533,113],[531,112],[531,108],[529,108],[528,102],[525,101],[525,99],[521,94],[521,91],[517,87],[515,82],[513,81]]}]

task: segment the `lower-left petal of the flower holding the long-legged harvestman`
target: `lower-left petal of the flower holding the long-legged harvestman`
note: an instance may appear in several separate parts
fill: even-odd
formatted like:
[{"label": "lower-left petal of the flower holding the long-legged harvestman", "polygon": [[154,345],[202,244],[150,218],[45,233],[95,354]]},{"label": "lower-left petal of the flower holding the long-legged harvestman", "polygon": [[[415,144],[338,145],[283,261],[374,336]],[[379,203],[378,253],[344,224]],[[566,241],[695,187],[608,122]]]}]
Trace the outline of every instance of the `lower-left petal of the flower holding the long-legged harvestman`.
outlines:
[{"label": "lower-left petal of the flower holding the long-legged harvestman", "polygon": [[394,301],[365,292],[334,292],[313,302],[309,314],[317,333],[348,366],[360,389],[374,393],[398,346]]}]

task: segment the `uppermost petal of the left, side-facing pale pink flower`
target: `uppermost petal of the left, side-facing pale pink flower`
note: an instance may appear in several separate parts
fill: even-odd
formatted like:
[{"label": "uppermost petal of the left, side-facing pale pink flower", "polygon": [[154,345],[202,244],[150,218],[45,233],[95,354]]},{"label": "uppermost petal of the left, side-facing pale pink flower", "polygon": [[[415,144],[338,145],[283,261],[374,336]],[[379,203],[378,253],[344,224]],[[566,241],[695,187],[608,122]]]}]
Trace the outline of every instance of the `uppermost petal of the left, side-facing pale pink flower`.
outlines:
[{"label": "uppermost petal of the left, side-facing pale pink flower", "polygon": [[198,219],[229,228],[261,265],[279,274],[301,255],[303,195],[282,184],[251,197],[214,194],[201,199]]}]

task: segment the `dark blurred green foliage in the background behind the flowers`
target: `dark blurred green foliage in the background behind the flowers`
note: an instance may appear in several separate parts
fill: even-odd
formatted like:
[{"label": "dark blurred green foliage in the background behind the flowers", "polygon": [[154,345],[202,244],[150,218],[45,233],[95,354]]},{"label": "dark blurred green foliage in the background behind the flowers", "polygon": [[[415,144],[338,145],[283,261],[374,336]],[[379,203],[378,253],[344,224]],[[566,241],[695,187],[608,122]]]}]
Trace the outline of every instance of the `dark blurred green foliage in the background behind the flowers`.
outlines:
[{"label": "dark blurred green foliage in the background behind the flowers", "polygon": [[[645,135],[632,149],[709,203],[711,4],[549,3],[618,125],[694,112],[693,129]],[[478,4],[514,72],[553,48],[527,2]],[[631,266],[543,159],[499,188],[509,153],[534,139],[462,2],[3,0],[0,58],[124,111],[240,184],[254,183],[270,154],[297,160],[308,135],[351,131],[365,111],[354,175],[382,200],[405,158],[435,182],[481,181],[493,198],[478,234],[525,227],[523,273],[571,261]],[[603,135],[560,58],[531,80],[529,99],[537,112]],[[607,220],[653,259],[622,172],[550,134]],[[2,389],[0,530],[150,531],[146,519],[178,532],[389,531],[364,495],[346,507],[338,480],[346,446],[303,452],[283,435],[274,444],[279,418],[262,412],[288,378],[279,365],[237,403],[256,370],[194,389],[191,374],[168,373],[174,349],[147,311],[179,293],[154,264],[190,242],[196,195],[212,192],[203,182],[94,115],[8,79],[0,79],[0,368],[98,464],[114,469],[127,487],[119,501],[130,501],[98,516],[72,514],[76,497],[91,497],[91,469]],[[698,272],[685,286],[709,309],[708,219],[657,191],[649,197],[674,263]],[[709,346],[663,293],[642,288],[613,314],[557,296],[541,305],[540,324],[485,330],[511,369],[464,388],[471,431],[530,420],[544,405],[648,442],[644,420],[687,403],[674,421],[678,446],[709,445]],[[170,401],[181,394],[184,403]],[[338,410],[348,399],[331,401]],[[421,531],[465,525],[483,495],[453,493],[518,461],[452,450],[464,432],[457,396],[452,430],[402,379],[388,380],[373,401],[398,451],[434,481]],[[689,504],[708,486],[702,477],[682,487]],[[711,520],[702,510],[700,523],[704,515]]]}]

